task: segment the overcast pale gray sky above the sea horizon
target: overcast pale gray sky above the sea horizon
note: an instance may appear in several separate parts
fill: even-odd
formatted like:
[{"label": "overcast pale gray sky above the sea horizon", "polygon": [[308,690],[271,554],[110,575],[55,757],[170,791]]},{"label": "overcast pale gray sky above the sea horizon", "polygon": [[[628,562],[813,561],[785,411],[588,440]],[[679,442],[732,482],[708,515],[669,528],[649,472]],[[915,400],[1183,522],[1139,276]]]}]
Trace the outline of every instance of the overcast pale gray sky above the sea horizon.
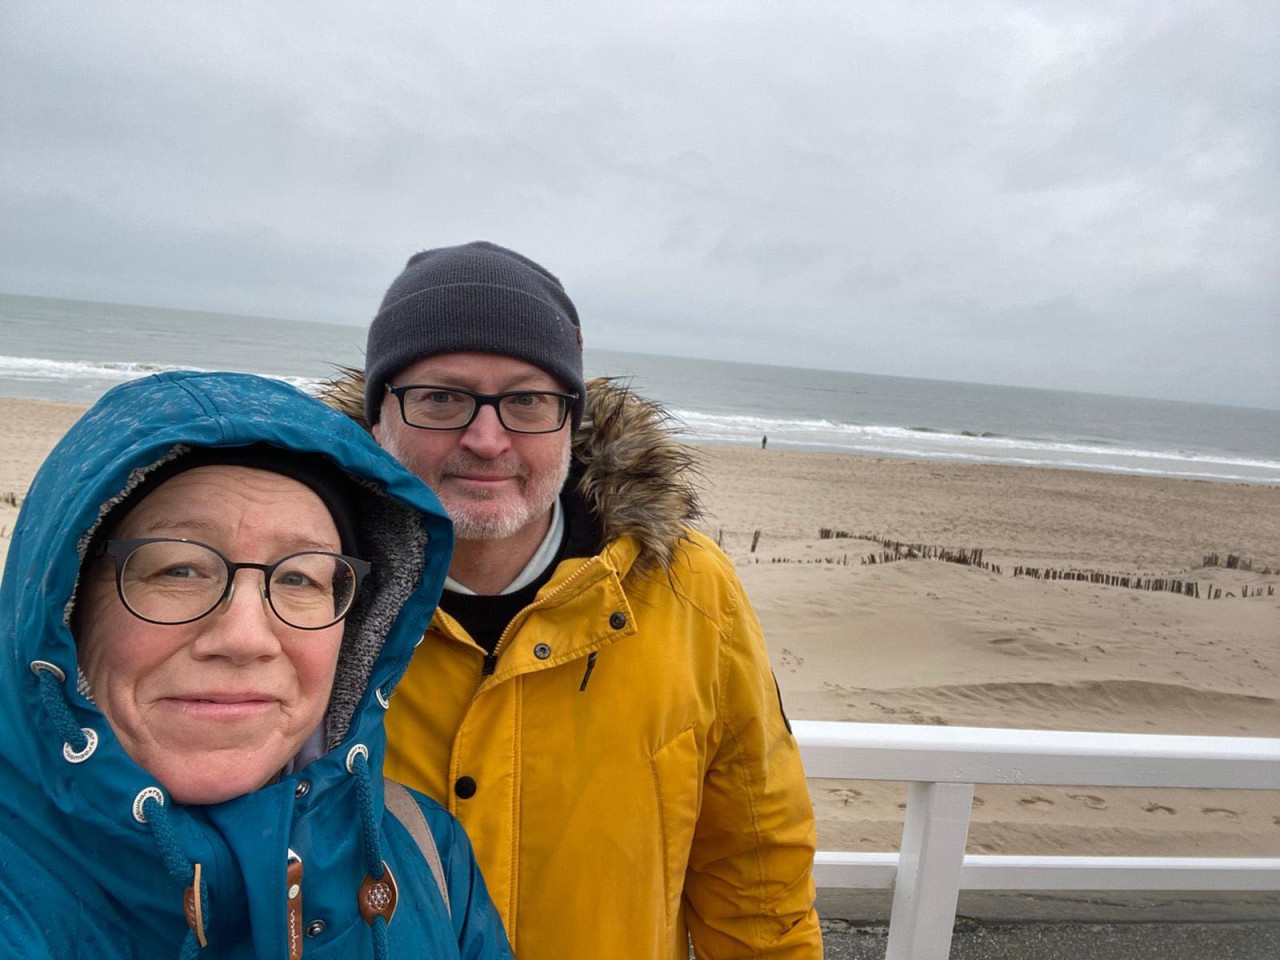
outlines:
[{"label": "overcast pale gray sky above the sea horizon", "polygon": [[1276,0],[0,4],[0,291],[1280,408]]}]

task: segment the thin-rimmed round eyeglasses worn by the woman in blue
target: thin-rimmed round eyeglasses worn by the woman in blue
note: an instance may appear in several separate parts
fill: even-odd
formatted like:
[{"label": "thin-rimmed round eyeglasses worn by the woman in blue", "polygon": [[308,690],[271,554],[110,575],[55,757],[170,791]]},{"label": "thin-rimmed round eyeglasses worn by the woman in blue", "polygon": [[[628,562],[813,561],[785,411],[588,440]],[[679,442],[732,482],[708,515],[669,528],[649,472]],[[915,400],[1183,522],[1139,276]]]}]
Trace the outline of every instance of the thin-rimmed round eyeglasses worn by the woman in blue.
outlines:
[{"label": "thin-rimmed round eyeglasses worn by the woman in blue", "polygon": [[275,563],[232,563],[207,544],[148,538],[108,540],[99,550],[115,561],[120,602],[148,623],[191,623],[232,595],[236,572],[262,571],[262,595],[291,627],[323,630],[351,612],[370,564],[340,553],[306,550]]}]

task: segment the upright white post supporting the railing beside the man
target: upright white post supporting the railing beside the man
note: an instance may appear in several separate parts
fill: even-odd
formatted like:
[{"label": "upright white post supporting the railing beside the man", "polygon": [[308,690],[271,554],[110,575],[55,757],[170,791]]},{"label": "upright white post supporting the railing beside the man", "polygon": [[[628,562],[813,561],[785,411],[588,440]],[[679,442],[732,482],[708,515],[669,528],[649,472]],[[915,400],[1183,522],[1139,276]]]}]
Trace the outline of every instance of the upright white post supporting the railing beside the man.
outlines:
[{"label": "upright white post supporting the railing beside the man", "polygon": [[884,960],[947,960],[973,783],[913,782]]}]

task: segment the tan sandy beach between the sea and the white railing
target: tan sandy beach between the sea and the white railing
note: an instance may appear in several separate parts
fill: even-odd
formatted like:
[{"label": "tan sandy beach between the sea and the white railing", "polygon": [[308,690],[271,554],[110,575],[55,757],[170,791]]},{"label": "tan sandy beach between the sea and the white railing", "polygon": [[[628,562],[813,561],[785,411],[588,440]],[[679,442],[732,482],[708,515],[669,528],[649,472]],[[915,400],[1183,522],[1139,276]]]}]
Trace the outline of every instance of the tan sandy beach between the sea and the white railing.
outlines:
[{"label": "tan sandy beach between the sea and the white railing", "polygon": [[[10,500],[81,411],[0,398],[5,552]],[[701,453],[703,527],[741,571],[792,718],[1280,736],[1280,488]],[[886,540],[980,550],[983,566],[864,563]],[[1199,598],[1044,571],[1178,580]],[[896,847],[905,787],[812,786],[820,846]],[[969,846],[1280,856],[1280,805],[1263,792],[979,787]]]}]

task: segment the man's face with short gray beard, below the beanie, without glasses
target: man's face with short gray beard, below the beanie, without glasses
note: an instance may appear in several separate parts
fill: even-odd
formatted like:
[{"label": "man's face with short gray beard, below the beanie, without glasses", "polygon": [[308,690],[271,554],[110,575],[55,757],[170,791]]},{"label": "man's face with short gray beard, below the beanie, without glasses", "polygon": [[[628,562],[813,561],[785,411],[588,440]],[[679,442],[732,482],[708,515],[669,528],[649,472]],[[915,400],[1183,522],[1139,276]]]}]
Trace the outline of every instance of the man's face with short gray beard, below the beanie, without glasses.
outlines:
[{"label": "man's face with short gray beard, below the beanie, without glasses", "polygon": [[[564,390],[544,370],[492,353],[442,353],[392,378],[393,387],[411,384],[475,393]],[[403,421],[390,393],[374,425],[378,443],[440,498],[460,540],[506,540],[543,520],[568,477],[570,431],[566,421],[553,434],[512,433],[490,406],[462,430],[421,430]]]}]

